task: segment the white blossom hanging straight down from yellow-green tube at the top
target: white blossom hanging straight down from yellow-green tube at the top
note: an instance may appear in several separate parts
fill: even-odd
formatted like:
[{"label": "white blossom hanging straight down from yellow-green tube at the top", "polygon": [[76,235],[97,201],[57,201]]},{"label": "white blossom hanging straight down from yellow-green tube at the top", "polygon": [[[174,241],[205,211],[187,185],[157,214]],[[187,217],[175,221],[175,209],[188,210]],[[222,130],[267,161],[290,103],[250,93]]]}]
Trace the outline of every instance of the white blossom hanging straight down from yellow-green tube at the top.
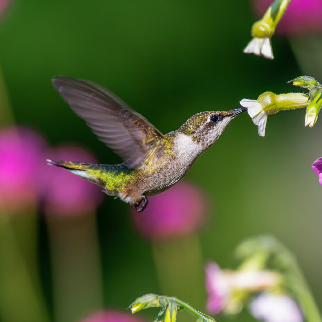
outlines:
[{"label": "white blossom hanging straight down from yellow-green tube at the top", "polygon": [[244,49],[246,54],[255,54],[267,59],[274,59],[271,37],[282,18],[290,0],[275,0],[266,10],[264,16],[251,29],[252,40]]}]

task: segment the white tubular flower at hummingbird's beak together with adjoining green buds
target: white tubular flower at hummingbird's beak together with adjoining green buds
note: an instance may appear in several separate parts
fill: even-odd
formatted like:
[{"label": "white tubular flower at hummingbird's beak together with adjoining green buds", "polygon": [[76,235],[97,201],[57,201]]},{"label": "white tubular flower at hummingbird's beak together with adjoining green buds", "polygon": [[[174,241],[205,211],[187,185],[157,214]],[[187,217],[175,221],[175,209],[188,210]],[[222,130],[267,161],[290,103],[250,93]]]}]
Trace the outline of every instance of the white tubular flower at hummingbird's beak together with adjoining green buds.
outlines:
[{"label": "white tubular flower at hummingbird's beak together with adjoining green buds", "polygon": [[248,108],[248,114],[258,127],[258,134],[265,136],[268,115],[290,109],[307,107],[305,126],[313,127],[322,106],[322,85],[310,76],[300,76],[292,81],[293,85],[308,89],[309,94],[274,94],[265,92],[255,99],[242,99],[239,103]]}]

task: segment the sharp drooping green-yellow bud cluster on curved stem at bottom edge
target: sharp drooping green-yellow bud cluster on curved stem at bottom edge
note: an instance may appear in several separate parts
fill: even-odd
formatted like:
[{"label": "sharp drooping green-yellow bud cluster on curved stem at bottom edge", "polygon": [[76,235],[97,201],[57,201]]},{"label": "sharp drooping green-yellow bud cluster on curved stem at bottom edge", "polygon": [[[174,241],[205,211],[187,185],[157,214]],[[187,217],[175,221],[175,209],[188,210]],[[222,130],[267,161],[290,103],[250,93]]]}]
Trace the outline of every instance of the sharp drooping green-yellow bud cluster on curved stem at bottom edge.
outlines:
[{"label": "sharp drooping green-yellow bud cluster on curved stem at bottom edge", "polygon": [[156,294],[147,294],[137,298],[129,307],[132,313],[136,313],[142,309],[147,308],[161,308],[161,311],[153,322],[175,322],[177,312],[180,310],[187,310],[194,317],[197,322],[215,322],[215,320],[200,311],[192,308],[189,304],[173,297],[167,297]]}]

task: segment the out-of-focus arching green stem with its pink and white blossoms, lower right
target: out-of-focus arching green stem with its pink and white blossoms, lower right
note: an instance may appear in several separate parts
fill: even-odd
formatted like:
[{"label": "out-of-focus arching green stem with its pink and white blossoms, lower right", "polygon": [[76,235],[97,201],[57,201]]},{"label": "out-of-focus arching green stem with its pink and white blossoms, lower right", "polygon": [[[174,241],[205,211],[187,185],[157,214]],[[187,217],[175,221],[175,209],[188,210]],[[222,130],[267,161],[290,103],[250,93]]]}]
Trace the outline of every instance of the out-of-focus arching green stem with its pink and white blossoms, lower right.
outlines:
[{"label": "out-of-focus arching green stem with its pink and white blossoms, lower right", "polygon": [[306,285],[297,276],[298,285],[294,286],[291,278],[299,270],[285,247],[270,236],[259,236],[242,242],[236,257],[241,260],[236,270],[220,269],[214,262],[206,266],[207,310],[211,314],[237,314],[250,303],[251,315],[265,322],[304,320],[305,302],[298,289],[307,294]]}]

